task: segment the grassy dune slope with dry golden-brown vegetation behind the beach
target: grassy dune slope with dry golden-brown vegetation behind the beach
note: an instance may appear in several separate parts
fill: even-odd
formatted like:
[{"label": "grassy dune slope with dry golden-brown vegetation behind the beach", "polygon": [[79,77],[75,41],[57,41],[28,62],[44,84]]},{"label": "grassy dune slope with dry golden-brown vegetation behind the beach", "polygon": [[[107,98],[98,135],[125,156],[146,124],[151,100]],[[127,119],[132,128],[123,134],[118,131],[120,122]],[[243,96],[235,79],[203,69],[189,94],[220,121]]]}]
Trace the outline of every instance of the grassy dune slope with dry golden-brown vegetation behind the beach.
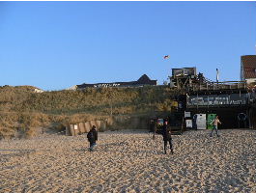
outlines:
[{"label": "grassy dune slope with dry golden-brown vegetation behind the beach", "polygon": [[167,86],[88,88],[35,93],[35,87],[0,87],[0,136],[17,131],[34,135],[37,126],[105,119],[110,115],[150,114],[170,110]]}]

